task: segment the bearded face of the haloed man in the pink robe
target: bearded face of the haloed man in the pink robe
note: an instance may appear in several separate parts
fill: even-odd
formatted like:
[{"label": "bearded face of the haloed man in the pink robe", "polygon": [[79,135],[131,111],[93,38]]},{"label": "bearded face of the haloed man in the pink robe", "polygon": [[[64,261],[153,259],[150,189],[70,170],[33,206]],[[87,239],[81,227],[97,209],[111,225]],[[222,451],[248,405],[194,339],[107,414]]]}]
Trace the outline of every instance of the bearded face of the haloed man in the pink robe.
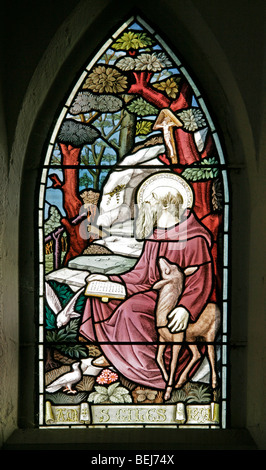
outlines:
[{"label": "bearded face of the haloed man in the pink robe", "polygon": [[178,222],[182,215],[182,203],[183,198],[180,193],[177,195],[168,193],[162,197],[153,195],[150,200],[142,202],[136,221],[136,237],[138,239],[149,237],[157,226],[163,211],[168,211]]}]

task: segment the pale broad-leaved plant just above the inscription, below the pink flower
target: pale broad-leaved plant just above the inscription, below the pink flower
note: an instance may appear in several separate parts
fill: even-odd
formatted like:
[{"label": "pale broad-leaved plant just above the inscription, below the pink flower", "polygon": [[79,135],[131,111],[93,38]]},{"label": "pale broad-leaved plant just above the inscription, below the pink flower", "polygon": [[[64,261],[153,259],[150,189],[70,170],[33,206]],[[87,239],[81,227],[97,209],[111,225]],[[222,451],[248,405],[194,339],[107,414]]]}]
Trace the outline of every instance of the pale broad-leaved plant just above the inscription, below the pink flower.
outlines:
[{"label": "pale broad-leaved plant just above the inscription, below the pink flower", "polygon": [[95,392],[92,392],[88,397],[89,402],[104,403],[132,403],[132,398],[129,391],[125,387],[120,386],[120,382],[115,382],[108,387],[98,385],[95,387]]}]

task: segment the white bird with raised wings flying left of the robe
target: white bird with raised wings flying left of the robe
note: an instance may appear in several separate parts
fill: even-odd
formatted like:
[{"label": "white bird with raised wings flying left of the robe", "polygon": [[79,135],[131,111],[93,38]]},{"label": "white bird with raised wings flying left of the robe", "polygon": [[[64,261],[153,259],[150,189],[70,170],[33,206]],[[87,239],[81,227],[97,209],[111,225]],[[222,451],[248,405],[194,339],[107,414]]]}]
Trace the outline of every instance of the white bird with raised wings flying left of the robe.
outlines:
[{"label": "white bird with raised wings flying left of the robe", "polygon": [[46,300],[49,307],[57,316],[56,324],[58,328],[65,326],[71,320],[71,318],[80,317],[80,313],[75,312],[74,308],[77,298],[84,289],[85,287],[79,289],[76,294],[72,297],[72,299],[67,303],[67,305],[62,308],[61,302],[57,297],[55,291],[52,289],[50,284],[48,284],[48,282],[45,283]]}]

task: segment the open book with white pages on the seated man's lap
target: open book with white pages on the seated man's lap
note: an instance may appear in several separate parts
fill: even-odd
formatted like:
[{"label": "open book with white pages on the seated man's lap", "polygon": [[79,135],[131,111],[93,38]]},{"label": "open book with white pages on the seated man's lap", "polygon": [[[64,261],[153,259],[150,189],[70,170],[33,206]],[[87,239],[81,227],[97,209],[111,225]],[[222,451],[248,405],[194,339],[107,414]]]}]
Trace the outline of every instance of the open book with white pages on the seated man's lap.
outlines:
[{"label": "open book with white pages on the seated man's lap", "polygon": [[108,302],[109,299],[125,299],[126,289],[119,282],[90,281],[85,289],[85,295],[101,297],[102,302]]}]

